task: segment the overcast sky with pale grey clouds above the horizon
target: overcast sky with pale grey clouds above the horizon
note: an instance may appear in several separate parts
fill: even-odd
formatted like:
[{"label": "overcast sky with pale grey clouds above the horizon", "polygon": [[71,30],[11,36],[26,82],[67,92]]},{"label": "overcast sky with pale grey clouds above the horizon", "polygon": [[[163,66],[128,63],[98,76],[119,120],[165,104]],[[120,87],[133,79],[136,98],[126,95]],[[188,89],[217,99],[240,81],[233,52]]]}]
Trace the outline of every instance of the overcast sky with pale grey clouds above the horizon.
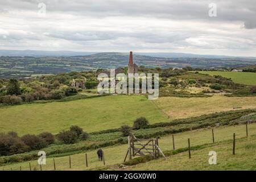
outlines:
[{"label": "overcast sky with pale grey clouds above the horizon", "polygon": [[256,56],[256,1],[1,0],[0,49]]}]

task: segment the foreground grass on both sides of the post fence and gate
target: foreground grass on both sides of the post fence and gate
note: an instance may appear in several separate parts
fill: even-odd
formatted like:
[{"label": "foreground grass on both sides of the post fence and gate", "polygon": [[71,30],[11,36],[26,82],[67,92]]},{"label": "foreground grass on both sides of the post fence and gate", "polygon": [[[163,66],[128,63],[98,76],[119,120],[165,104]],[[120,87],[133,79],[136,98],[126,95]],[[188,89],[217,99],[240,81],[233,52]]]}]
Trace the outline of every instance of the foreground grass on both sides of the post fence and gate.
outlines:
[{"label": "foreground grass on both sides of the post fence and gate", "polygon": [[[256,134],[256,123],[249,125],[249,135],[255,135]],[[215,141],[221,142],[224,140],[232,140],[233,133],[236,133],[236,137],[242,138],[245,137],[245,125],[236,125],[236,126],[225,126],[225,127],[218,127],[217,129],[214,129],[214,135],[215,135]],[[205,143],[212,143],[212,131],[210,129],[201,129],[196,131],[188,131],[184,133],[179,133],[175,135],[175,146],[176,148],[184,148],[187,147],[187,139],[191,139],[191,146],[197,146],[202,145]],[[252,140],[249,140],[249,142],[243,142],[244,144],[250,145],[251,143],[254,144],[255,147],[255,140],[256,137],[249,137],[253,138]],[[163,151],[166,150],[172,150],[172,140],[171,136],[162,137],[159,139],[159,146]],[[220,146],[220,147],[219,147]],[[200,151],[192,151],[192,159],[190,162],[188,161],[188,154],[187,152],[177,154],[175,156],[171,156],[168,158],[168,160],[164,161],[162,159],[157,160],[157,163],[162,165],[156,164],[156,160],[153,160],[151,162],[147,162],[146,164],[139,164],[135,167],[131,167],[129,169],[151,169],[151,170],[157,170],[157,169],[164,169],[164,170],[170,170],[170,169],[199,169],[200,164],[203,166],[207,166],[208,164],[208,152],[210,150],[215,150],[218,153],[218,156],[220,156],[220,159],[218,159],[218,163],[221,164],[221,169],[240,169],[239,166],[230,166],[229,161],[232,161],[232,163],[236,163],[237,159],[245,159],[246,161],[242,160],[244,167],[251,167],[251,159],[255,158],[256,152],[250,151],[245,153],[245,151],[240,151],[240,142],[237,143],[237,156],[232,158],[232,144],[216,144],[216,146],[212,148],[207,148],[205,150]],[[223,156],[222,148],[225,149],[225,154]],[[109,169],[119,169],[117,165],[115,164],[121,164],[123,162],[123,159],[125,157],[125,153],[127,150],[127,144],[119,145],[119,146],[112,146],[112,147],[105,147],[102,148],[104,150],[105,154],[105,161],[106,166],[108,166]],[[254,148],[255,150],[255,148]],[[55,158],[56,163],[56,169],[57,170],[85,170],[85,169],[94,169],[97,167],[104,167],[102,162],[98,161],[98,157],[96,154],[96,150],[93,151],[87,151],[88,154],[88,164],[89,167],[85,167],[85,153],[75,154],[71,155],[71,163],[72,167],[69,168],[69,156],[62,156]],[[243,156],[245,155],[245,156]],[[239,160],[238,162],[240,162]],[[237,163],[238,163],[237,162]],[[37,160],[30,161],[32,169],[36,168],[37,170],[40,170],[40,166],[37,163]],[[190,166],[186,168],[186,164],[189,163]],[[174,167],[171,167],[172,164]],[[196,166],[197,164],[198,166]],[[241,163],[239,163],[241,164]],[[109,166],[110,165],[110,166]],[[113,166],[114,165],[114,166]],[[180,166],[179,166],[180,165]],[[11,165],[5,165],[1,168],[5,170],[20,170],[20,166],[22,167],[22,170],[29,170],[29,162],[23,162],[23,163],[16,163]],[[177,166],[177,168],[175,168]],[[254,163],[255,166],[255,163]],[[251,169],[251,168],[247,169]],[[53,159],[51,157],[47,158],[46,165],[42,166],[43,170],[53,170]],[[209,168],[210,169],[210,168]]]}]

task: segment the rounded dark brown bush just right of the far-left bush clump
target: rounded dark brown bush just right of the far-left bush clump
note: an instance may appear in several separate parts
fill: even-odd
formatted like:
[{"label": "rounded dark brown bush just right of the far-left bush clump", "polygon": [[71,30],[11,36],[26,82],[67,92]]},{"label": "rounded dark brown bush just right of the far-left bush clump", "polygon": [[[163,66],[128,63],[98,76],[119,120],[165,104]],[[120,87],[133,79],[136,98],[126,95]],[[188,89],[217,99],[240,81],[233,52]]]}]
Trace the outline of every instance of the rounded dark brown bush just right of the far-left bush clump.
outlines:
[{"label": "rounded dark brown bush just right of the far-left bush clump", "polygon": [[36,135],[24,135],[21,139],[31,150],[38,150],[47,146],[47,142]]}]

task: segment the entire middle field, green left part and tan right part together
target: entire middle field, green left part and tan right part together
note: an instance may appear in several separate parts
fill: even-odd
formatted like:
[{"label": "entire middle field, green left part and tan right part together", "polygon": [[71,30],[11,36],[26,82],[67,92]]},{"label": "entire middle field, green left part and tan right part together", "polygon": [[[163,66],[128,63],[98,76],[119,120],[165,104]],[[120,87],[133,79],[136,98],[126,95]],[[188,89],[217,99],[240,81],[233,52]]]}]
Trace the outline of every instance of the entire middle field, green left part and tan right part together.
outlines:
[{"label": "entire middle field, green left part and tan right part together", "polygon": [[[160,97],[154,102],[144,96],[105,96],[69,102],[27,104],[0,108],[0,132],[19,135],[53,134],[78,125],[93,132],[132,125],[146,117],[150,123],[189,118],[202,114],[256,108],[256,97],[213,96],[202,98]],[[166,113],[166,114],[164,114]]]}]

